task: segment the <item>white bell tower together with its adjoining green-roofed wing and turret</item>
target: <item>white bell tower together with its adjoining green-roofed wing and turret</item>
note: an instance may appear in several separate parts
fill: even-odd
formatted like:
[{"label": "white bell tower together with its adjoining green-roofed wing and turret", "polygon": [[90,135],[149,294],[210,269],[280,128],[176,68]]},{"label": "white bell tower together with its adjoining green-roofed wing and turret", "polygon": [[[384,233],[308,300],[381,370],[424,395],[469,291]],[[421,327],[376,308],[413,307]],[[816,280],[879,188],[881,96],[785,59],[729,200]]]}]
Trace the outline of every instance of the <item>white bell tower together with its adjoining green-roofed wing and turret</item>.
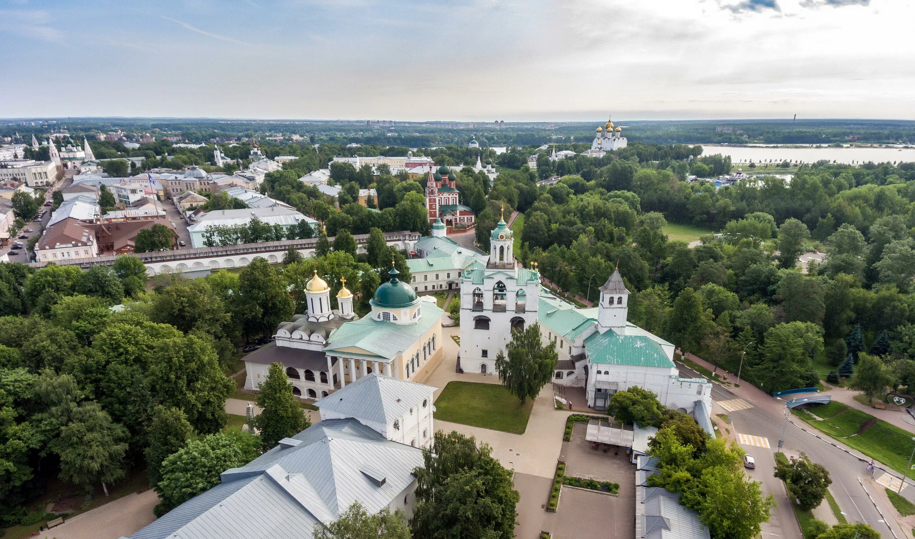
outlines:
[{"label": "white bell tower together with its adjoining green-roofed wing and turret", "polygon": [[511,331],[539,323],[544,343],[552,343],[559,354],[554,383],[585,388],[588,407],[606,410],[611,394],[640,386],[711,428],[705,419],[712,409],[712,384],[680,376],[673,344],[626,320],[630,291],[619,269],[600,287],[597,307],[574,307],[540,285],[535,266],[516,266],[511,229],[499,221],[489,264],[468,268],[460,290],[464,372],[492,374]]}]

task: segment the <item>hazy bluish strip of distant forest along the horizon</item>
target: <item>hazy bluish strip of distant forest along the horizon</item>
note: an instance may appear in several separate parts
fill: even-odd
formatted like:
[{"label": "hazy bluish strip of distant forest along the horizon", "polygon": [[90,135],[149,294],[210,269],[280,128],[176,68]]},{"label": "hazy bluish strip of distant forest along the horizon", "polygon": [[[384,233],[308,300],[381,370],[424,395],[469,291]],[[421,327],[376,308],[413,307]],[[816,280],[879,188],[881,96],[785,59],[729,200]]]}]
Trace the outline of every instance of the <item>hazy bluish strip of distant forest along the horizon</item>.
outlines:
[{"label": "hazy bluish strip of distant forest along the horizon", "polygon": [[[358,143],[378,146],[430,147],[465,145],[476,139],[480,146],[539,146],[590,142],[598,125],[592,123],[506,123],[371,126],[364,122],[215,120],[182,118],[77,118],[36,120],[24,125],[0,125],[0,135],[30,141],[31,135],[48,135],[66,128],[70,135],[94,135],[121,129],[128,136],[149,133],[181,136],[188,142],[213,139],[266,139],[300,135],[311,144]],[[915,122],[895,120],[734,120],[734,121],[615,121],[630,142],[649,144],[915,144]],[[458,126],[456,126],[458,125]],[[467,125],[467,126],[464,126]]]}]

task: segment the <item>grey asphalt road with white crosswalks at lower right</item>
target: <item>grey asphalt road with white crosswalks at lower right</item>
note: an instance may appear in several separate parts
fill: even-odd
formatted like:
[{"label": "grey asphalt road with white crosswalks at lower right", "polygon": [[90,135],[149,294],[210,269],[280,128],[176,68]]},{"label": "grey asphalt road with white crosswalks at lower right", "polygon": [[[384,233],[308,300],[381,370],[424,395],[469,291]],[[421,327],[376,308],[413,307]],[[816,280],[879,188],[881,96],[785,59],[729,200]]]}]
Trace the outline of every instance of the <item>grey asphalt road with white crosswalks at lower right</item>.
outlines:
[{"label": "grey asphalt road with white crosswalks at lower right", "polygon": [[[683,363],[677,362],[677,367],[691,377],[705,378],[705,375],[695,372]],[[727,388],[717,383],[712,385],[712,397],[718,402],[739,398],[736,394],[727,391]],[[747,401],[746,398],[744,400]],[[748,404],[755,404],[747,402]],[[769,439],[769,449],[741,444],[741,447],[749,455],[755,457],[757,462],[755,470],[747,470],[748,476],[754,480],[762,481],[764,491],[773,493],[776,501],[779,502],[779,506],[772,512],[770,523],[763,526],[762,530],[765,537],[801,537],[791,507],[788,506],[788,498],[784,487],[781,481],[773,476],[775,467],[774,454],[778,450],[779,439],[784,440],[784,448],[782,450],[785,453],[797,455],[803,451],[811,460],[822,464],[829,470],[833,480],[830,491],[832,491],[835,501],[839,504],[839,508],[842,512],[845,512],[845,518],[849,523],[868,521],[883,537],[893,537],[887,523],[874,522],[882,520],[883,517],[877,512],[864,487],[858,482],[858,478],[863,480],[866,477],[865,462],[861,462],[858,458],[845,453],[842,449],[813,437],[791,423],[786,424],[784,415],[773,414],[765,406],[754,405],[751,408],[731,412],[730,416],[732,420],[731,427],[735,432]],[[781,437],[782,429],[784,429],[783,438]],[[823,504],[825,503],[826,501],[823,501]],[[883,508],[883,511],[889,517],[888,511],[893,511],[893,509],[891,507]]]}]

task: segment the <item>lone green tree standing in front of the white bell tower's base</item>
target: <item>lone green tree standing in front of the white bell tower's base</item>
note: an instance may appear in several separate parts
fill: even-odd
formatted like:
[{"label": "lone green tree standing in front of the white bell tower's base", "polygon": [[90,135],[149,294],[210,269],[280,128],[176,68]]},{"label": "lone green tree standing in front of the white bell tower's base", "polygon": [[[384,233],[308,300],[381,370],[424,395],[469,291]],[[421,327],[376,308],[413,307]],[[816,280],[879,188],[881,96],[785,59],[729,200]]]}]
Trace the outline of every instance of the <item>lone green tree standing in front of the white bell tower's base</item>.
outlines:
[{"label": "lone green tree standing in front of the white bell tower's base", "polygon": [[496,354],[496,372],[502,385],[519,399],[536,398],[544,385],[553,380],[559,354],[540,339],[540,325],[512,330],[511,342],[505,351]]}]

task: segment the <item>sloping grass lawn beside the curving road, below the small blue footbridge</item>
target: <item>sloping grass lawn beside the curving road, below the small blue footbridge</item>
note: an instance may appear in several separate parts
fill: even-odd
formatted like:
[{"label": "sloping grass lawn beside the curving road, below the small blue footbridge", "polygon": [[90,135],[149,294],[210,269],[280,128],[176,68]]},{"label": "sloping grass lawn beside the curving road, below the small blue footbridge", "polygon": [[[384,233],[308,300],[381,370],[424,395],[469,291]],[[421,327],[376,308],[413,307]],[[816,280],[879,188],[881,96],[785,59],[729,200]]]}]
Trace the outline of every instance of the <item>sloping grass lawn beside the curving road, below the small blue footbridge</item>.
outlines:
[{"label": "sloping grass lawn beside the curving road, below the small blue footbridge", "polygon": [[[899,473],[905,472],[912,450],[911,434],[908,431],[841,403],[812,407],[811,412],[823,417],[824,421],[817,421],[804,410],[793,410],[794,415],[813,428],[864,453],[867,457],[876,458]],[[861,434],[857,434],[866,422],[872,425]]]}]

